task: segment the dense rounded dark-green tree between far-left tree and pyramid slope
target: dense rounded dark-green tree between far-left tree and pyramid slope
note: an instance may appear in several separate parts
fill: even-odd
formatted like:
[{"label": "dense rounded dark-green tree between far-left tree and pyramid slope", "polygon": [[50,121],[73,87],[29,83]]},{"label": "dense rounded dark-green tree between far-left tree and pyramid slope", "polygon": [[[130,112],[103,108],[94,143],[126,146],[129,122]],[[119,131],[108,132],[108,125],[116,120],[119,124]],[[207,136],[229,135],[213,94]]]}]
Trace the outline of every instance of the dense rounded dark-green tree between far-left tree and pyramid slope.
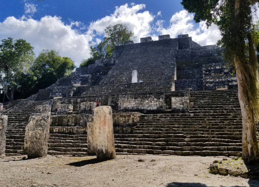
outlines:
[{"label": "dense rounded dark-green tree between far-left tree and pyramid slope", "polygon": [[75,67],[73,60],[61,57],[55,50],[43,50],[30,69],[30,79],[35,81],[36,90],[44,89],[69,75]]}]

